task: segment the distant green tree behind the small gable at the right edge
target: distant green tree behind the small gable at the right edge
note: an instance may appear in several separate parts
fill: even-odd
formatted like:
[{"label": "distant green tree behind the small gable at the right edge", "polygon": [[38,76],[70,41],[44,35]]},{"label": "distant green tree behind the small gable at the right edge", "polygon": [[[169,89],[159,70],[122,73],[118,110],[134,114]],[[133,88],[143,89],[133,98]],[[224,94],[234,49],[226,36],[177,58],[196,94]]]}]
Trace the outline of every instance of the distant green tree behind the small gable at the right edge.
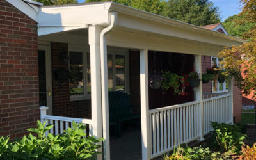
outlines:
[{"label": "distant green tree behind the small gable at the right edge", "polygon": [[[241,24],[241,19],[244,19],[246,15],[232,15],[228,17],[222,24],[228,33],[232,36],[243,37],[244,33],[248,32],[252,26],[255,25],[253,22]],[[238,22],[237,22],[238,21]]]}]

